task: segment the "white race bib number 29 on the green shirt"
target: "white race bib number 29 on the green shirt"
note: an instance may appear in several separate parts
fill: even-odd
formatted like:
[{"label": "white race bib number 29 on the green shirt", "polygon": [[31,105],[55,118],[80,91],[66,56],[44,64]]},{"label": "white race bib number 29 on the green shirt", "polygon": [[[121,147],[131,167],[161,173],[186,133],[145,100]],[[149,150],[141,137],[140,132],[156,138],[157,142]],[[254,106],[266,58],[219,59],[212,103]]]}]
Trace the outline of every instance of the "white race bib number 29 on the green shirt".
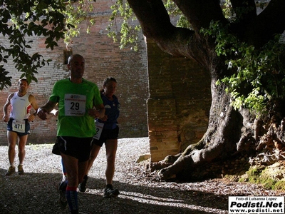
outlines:
[{"label": "white race bib number 29 on the green shirt", "polygon": [[83,116],[86,112],[86,95],[70,94],[64,96],[66,116]]}]

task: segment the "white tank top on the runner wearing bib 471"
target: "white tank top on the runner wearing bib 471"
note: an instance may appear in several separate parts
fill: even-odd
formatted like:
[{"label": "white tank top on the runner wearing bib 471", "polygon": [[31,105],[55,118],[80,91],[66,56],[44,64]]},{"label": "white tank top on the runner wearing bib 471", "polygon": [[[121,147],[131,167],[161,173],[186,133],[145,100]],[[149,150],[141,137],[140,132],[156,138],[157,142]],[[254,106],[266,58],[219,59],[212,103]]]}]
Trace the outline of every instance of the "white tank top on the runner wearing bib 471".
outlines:
[{"label": "white tank top on the runner wearing bib 471", "polygon": [[14,118],[17,121],[22,121],[30,116],[31,103],[28,101],[30,93],[26,93],[25,96],[18,96],[18,92],[14,93],[11,98],[11,111],[10,118]]}]

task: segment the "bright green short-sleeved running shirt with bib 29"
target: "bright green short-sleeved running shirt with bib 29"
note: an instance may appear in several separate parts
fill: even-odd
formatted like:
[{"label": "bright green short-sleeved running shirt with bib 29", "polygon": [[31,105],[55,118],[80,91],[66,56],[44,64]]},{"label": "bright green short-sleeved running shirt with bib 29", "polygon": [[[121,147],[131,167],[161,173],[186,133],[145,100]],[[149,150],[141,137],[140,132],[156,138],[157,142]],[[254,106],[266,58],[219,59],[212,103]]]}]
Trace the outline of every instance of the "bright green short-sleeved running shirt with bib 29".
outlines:
[{"label": "bright green short-sleeved running shirt with bib 29", "polygon": [[83,79],[73,83],[68,79],[57,81],[49,101],[58,103],[57,136],[93,137],[96,133],[94,118],[88,109],[103,103],[98,86]]}]

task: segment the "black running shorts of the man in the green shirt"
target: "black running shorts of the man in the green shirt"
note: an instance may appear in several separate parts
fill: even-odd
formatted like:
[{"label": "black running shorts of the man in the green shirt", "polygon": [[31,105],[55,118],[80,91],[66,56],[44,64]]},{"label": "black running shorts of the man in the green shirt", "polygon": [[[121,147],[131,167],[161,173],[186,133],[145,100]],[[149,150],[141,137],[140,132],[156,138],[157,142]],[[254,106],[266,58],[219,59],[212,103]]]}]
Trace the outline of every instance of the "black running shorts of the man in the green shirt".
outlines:
[{"label": "black running shorts of the man in the green shirt", "polygon": [[56,144],[53,146],[53,153],[61,153],[78,159],[79,162],[88,161],[91,151],[93,138],[76,138],[58,136]]}]

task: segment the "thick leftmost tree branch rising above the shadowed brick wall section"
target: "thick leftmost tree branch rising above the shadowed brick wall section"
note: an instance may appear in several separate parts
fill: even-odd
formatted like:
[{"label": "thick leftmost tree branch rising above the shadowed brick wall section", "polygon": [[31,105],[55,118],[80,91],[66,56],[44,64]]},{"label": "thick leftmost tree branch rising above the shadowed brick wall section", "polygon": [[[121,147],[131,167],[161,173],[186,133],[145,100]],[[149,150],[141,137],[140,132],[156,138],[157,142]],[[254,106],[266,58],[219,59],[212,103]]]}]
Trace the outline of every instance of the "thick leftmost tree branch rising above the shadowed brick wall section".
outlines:
[{"label": "thick leftmost tree branch rising above the shadowed brick wall section", "polygon": [[161,0],[128,0],[128,4],[140,21],[142,33],[160,49],[174,56],[192,57],[189,47],[194,31],[173,26]]}]

